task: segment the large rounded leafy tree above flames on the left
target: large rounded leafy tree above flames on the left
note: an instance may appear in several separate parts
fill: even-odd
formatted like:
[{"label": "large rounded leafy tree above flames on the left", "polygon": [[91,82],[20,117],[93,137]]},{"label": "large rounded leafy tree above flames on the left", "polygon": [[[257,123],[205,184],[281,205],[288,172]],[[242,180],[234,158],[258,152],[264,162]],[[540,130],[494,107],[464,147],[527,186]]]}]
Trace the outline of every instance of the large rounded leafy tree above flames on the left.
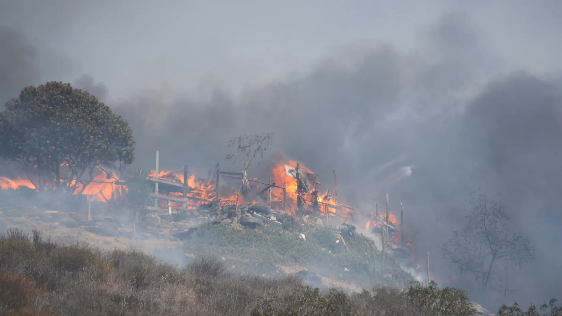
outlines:
[{"label": "large rounded leafy tree above flames on the left", "polygon": [[0,156],[19,162],[31,181],[38,179],[38,189],[54,183],[55,188],[82,193],[97,166],[134,160],[128,123],[70,84],[24,88],[5,106],[0,112]]}]

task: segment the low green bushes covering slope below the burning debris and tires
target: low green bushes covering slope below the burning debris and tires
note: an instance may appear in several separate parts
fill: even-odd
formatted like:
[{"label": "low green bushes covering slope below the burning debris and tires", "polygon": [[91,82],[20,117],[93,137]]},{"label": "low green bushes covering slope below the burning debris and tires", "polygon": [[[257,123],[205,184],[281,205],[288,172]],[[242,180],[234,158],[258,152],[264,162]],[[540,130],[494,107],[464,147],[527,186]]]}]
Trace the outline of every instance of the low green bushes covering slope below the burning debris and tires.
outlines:
[{"label": "low green bushes covering slope below the burning debris and tires", "polygon": [[[374,242],[352,228],[305,225],[291,215],[284,215],[283,221],[291,224],[236,229],[224,223],[206,223],[185,241],[184,251],[224,258],[229,270],[242,274],[274,277],[282,273],[280,265],[300,265],[362,287],[405,288],[414,281],[390,256],[383,269],[382,254]],[[301,233],[306,241],[300,238]],[[339,241],[337,234],[345,236],[345,242]]]}]

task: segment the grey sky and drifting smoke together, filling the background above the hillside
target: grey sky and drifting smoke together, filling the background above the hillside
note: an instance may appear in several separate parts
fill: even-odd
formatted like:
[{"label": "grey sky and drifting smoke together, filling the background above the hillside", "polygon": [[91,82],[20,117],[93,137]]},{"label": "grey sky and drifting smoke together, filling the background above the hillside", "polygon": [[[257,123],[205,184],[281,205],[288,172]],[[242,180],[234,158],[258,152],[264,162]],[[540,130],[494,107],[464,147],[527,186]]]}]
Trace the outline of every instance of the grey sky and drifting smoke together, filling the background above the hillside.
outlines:
[{"label": "grey sky and drifting smoke together, filling the background above the hillside", "polygon": [[[270,154],[304,162],[324,188],[335,169],[348,204],[403,202],[438,281],[491,309],[540,304],[562,293],[560,16],[546,0],[3,0],[0,100],[71,82],[129,121],[135,165],[152,168],[160,150],[161,168],[203,177],[228,139],[274,132]],[[536,242],[506,298],[441,256],[461,224],[452,210],[478,189],[501,192]]]}]

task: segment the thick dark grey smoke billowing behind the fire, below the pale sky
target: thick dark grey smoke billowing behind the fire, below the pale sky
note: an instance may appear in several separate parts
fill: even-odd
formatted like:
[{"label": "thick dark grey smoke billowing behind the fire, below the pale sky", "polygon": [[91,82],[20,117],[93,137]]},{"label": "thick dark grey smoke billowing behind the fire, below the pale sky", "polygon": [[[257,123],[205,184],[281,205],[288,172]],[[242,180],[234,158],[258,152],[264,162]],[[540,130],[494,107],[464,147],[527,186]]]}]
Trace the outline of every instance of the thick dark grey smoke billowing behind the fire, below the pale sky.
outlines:
[{"label": "thick dark grey smoke billowing behind the fire, below the pale sky", "polygon": [[[7,38],[1,51],[8,52],[0,55],[0,69],[7,69],[0,72],[4,99],[22,86],[57,76],[34,67],[38,48],[11,32],[0,32]],[[324,188],[333,186],[335,169],[338,194],[348,204],[380,205],[383,194],[390,193],[391,209],[404,202],[408,223],[419,229],[416,250],[430,251],[438,281],[455,274],[440,255],[461,223],[451,210],[471,191],[501,192],[515,227],[537,243],[537,260],[510,272],[510,287],[518,291],[505,299],[503,294],[484,297],[464,279],[454,285],[490,309],[514,300],[542,303],[562,292],[562,256],[555,250],[562,242],[557,229],[562,224],[557,164],[562,82],[557,74],[504,64],[482,34],[463,13],[449,13],[421,33],[411,51],[392,44],[347,45],[306,73],[239,96],[220,87],[212,87],[215,93],[205,101],[144,91],[111,105],[132,125],[136,165],[153,168],[159,150],[161,168],[188,164],[205,177],[225,156],[228,139],[274,132],[266,162],[282,152],[318,173]],[[95,83],[91,76],[75,84],[111,101],[111,85]],[[411,165],[410,177],[393,186],[380,183]],[[235,171],[228,162],[221,166]],[[261,174],[260,168],[251,172]]]}]

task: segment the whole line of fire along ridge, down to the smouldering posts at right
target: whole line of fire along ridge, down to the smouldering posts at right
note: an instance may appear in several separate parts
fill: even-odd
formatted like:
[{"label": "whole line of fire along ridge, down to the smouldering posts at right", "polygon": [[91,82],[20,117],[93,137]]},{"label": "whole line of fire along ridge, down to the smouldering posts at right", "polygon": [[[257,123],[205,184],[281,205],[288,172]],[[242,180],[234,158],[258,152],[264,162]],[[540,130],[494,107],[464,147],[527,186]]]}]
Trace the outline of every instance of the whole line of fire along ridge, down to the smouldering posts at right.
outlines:
[{"label": "whole line of fire along ridge, down to the smouldering posts at right", "polygon": [[[337,197],[335,195],[330,195],[329,189],[320,191],[320,183],[316,182],[315,177],[314,180],[311,180],[311,185],[310,183],[306,184],[307,187],[305,189],[301,186],[301,191],[299,192],[297,179],[288,174],[290,173],[289,171],[295,171],[294,169],[297,169],[297,166],[297,172],[314,175],[310,169],[306,168],[302,163],[297,163],[297,161],[289,160],[274,164],[271,167],[271,177],[267,183],[256,181],[257,179],[248,179],[252,192],[254,193],[246,195],[246,197],[242,196],[236,187],[221,186],[219,188],[219,203],[221,205],[250,205],[265,202],[270,204],[273,209],[285,210],[288,214],[297,215],[298,210],[301,210],[301,212],[305,210],[305,213],[308,211],[309,214],[316,214],[316,216],[324,218],[324,222],[327,224],[332,223],[334,219],[337,221],[336,223],[347,223],[352,218],[352,215],[356,214],[356,210],[352,207],[339,204]],[[102,168],[98,169],[99,170],[96,170],[98,173],[93,178],[92,182],[90,182],[84,190],[82,190],[81,184],[78,184],[75,192],[82,192],[90,201],[101,201],[107,204],[111,204],[112,201],[118,200],[119,198],[126,198],[127,188],[123,185],[124,183],[119,178],[117,172]],[[156,178],[156,171],[150,171],[149,177],[153,179]],[[202,204],[209,204],[211,201],[216,201],[217,179],[215,178],[216,174],[211,172],[209,172],[209,176],[206,179],[196,178],[193,174],[187,174],[188,189],[187,192],[184,193],[185,181],[183,172],[179,172],[178,170],[159,171],[157,179],[165,180],[167,183],[174,183],[176,187],[181,187],[181,189],[178,190],[179,192],[166,192],[165,189],[160,189],[158,192],[160,195],[172,198],[159,198],[158,208],[170,210],[187,207],[188,209],[194,209]],[[231,178],[241,179],[240,177],[232,176]],[[30,181],[25,177],[17,177],[14,179],[0,177],[0,189],[20,189],[25,187],[37,191],[34,183],[37,182]],[[268,183],[273,184],[274,187],[268,190]],[[63,181],[61,185],[68,186],[68,183],[64,183]],[[285,192],[283,187],[285,188]],[[335,188],[334,191],[336,191]],[[257,192],[260,192],[260,194],[256,194]],[[301,196],[300,200],[298,199],[299,195]],[[187,198],[187,200],[184,200],[184,198]],[[246,201],[246,199],[248,201]],[[297,200],[301,201],[300,205],[297,205]],[[365,228],[378,227],[380,229],[380,227],[388,223],[395,229],[392,237],[396,241],[396,245],[409,248],[411,250],[411,256],[414,257],[414,247],[411,242],[412,234],[410,231],[405,229],[402,223],[398,222],[395,213],[388,211],[387,221],[386,210],[382,209],[378,210],[378,212],[376,210],[377,205],[373,205],[372,209],[369,210],[372,211],[372,215],[365,223]],[[375,216],[375,213],[378,213],[378,216]],[[402,232],[402,230],[404,231]],[[404,242],[400,240],[402,236],[405,238]]]}]

